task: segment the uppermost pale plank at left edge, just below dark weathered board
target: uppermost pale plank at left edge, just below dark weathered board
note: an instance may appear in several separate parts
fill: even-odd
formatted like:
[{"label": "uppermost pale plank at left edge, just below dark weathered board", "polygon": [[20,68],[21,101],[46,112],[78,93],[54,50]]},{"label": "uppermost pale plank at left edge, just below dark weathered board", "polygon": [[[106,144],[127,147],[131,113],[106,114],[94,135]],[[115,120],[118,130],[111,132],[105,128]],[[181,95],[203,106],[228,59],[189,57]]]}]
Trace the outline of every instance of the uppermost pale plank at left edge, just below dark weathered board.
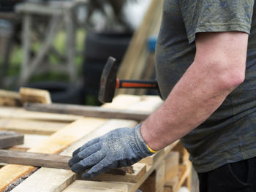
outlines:
[{"label": "uppermost pale plank at left edge, just below dark weathered board", "polygon": [[20,107],[0,107],[0,118],[46,120],[72,123],[83,118],[78,115],[62,115],[47,112],[29,112]]}]

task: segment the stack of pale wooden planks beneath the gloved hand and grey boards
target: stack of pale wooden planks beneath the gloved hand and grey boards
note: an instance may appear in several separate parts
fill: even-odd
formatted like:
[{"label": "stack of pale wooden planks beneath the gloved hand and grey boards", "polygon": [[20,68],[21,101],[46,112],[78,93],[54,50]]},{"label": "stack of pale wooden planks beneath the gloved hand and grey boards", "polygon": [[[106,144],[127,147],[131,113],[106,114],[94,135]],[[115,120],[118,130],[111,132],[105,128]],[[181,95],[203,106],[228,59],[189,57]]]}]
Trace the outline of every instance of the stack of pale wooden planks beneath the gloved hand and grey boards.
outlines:
[{"label": "stack of pale wooden planks beneath the gloved hand and grey boards", "polygon": [[[152,112],[162,103],[158,96],[116,96],[106,109]],[[23,107],[1,107],[0,130],[25,134],[24,144],[9,150],[71,156],[72,152],[106,132],[119,127],[132,127],[135,120],[88,118],[78,115],[29,112]],[[45,123],[45,124],[44,124]],[[134,173],[102,174],[93,180],[80,180],[67,169],[2,164],[0,191],[178,191],[185,183],[189,187],[190,168],[186,153],[179,142],[159,153],[144,158],[133,166]],[[181,161],[181,160],[182,161]],[[181,162],[180,162],[181,161]],[[0,162],[1,163],[1,162]],[[187,180],[187,183],[185,182]]]}]

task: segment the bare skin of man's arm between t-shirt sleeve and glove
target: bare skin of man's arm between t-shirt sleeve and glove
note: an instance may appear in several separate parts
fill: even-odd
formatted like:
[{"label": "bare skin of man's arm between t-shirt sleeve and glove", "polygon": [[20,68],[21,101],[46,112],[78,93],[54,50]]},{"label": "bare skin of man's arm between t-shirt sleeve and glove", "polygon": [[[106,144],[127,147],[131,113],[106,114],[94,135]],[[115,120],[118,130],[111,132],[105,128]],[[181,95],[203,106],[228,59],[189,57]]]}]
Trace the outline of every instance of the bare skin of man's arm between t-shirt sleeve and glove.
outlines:
[{"label": "bare skin of man's arm between t-shirt sleeve and glove", "polygon": [[169,96],[141,126],[151,149],[160,150],[203,123],[244,81],[248,34],[200,33],[194,62]]}]

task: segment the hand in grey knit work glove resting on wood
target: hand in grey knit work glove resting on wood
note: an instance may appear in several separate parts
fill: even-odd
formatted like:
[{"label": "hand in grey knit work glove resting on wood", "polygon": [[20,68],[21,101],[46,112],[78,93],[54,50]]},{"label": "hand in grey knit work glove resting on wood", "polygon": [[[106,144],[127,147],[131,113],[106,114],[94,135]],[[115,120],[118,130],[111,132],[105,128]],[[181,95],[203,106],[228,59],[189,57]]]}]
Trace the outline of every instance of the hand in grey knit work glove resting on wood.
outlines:
[{"label": "hand in grey knit work glove resting on wood", "polygon": [[140,134],[140,124],[135,128],[117,128],[102,137],[92,139],[74,151],[69,161],[73,172],[83,179],[95,177],[122,166],[130,166],[152,155]]}]

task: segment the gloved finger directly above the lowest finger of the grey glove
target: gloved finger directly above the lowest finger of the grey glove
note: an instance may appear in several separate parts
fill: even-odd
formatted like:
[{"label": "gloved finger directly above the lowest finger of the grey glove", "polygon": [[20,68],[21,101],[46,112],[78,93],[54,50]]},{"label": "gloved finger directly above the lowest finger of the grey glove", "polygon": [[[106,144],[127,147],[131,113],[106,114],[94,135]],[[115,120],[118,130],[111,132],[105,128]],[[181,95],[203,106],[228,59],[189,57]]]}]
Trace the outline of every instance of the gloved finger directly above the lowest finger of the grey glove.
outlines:
[{"label": "gloved finger directly above the lowest finger of the grey glove", "polygon": [[102,152],[97,151],[96,153],[91,154],[88,158],[84,158],[77,164],[71,166],[72,172],[84,172],[95,164],[98,164],[103,158],[105,158],[105,156],[102,154]]}]

